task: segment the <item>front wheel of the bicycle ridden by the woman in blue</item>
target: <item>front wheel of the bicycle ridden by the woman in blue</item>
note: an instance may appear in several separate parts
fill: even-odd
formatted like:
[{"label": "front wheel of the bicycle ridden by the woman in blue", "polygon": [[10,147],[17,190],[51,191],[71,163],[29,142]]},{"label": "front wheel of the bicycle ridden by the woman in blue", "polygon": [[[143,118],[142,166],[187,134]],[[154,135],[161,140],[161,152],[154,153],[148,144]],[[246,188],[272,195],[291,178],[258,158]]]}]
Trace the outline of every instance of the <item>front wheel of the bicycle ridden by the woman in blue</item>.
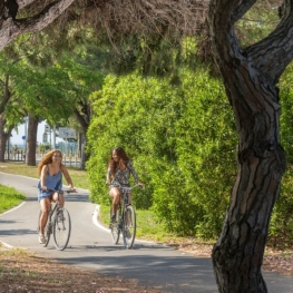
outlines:
[{"label": "front wheel of the bicycle ridden by the woman in blue", "polygon": [[71,232],[71,221],[69,212],[61,207],[56,211],[53,221],[53,241],[57,250],[66,248]]}]

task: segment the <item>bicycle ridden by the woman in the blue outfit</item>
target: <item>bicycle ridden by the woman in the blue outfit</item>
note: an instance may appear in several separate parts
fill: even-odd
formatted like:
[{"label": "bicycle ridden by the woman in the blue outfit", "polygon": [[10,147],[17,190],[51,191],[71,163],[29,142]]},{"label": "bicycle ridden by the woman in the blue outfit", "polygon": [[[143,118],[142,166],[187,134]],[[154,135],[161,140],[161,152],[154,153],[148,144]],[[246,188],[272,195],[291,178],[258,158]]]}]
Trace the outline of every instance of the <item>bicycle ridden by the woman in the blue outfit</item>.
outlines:
[{"label": "bicycle ridden by the woman in the blue outfit", "polygon": [[[45,240],[43,247],[48,246],[50,236],[53,234],[55,246],[59,251],[64,251],[69,242],[70,233],[71,233],[71,221],[69,212],[60,206],[59,195],[64,193],[72,193],[71,191],[55,191],[48,189],[49,192],[53,192],[58,194],[58,199],[56,203],[50,203],[50,211],[48,215],[48,221],[45,227]],[[39,213],[38,228],[37,232],[40,231],[40,216],[41,211]]]}]

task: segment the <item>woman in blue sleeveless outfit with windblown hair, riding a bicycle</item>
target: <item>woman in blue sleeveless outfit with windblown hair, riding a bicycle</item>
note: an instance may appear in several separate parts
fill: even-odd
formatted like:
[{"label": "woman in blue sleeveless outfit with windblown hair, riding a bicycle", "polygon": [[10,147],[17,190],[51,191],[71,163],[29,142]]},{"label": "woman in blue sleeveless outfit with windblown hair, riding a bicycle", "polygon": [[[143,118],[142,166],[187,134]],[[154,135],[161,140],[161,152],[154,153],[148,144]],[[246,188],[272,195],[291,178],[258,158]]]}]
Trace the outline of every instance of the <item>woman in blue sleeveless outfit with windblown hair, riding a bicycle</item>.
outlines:
[{"label": "woman in blue sleeveless outfit with windblown hair, riding a bicycle", "polygon": [[[40,216],[40,235],[39,243],[45,243],[45,227],[48,221],[48,215],[50,211],[50,203],[57,202],[58,194],[52,193],[49,189],[59,191],[62,188],[62,175],[65,176],[69,188],[71,192],[76,192],[74,187],[71,177],[61,163],[62,154],[59,149],[52,149],[47,153],[38,165],[38,174],[40,175],[40,180],[38,183],[38,201],[40,202],[41,216]],[[65,199],[61,194],[59,194],[60,206],[64,206]]]}]

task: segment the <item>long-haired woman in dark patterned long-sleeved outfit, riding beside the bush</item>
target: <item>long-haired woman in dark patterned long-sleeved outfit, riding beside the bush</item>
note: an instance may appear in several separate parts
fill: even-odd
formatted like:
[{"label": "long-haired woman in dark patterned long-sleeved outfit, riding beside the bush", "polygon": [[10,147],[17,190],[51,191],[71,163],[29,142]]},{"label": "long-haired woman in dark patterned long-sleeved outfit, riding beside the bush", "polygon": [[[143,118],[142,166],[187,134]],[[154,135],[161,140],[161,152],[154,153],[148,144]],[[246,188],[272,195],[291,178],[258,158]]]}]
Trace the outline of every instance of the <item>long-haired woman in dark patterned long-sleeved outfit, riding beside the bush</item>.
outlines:
[{"label": "long-haired woman in dark patterned long-sleeved outfit, riding beside the bush", "polygon": [[[144,185],[131,163],[121,147],[116,147],[111,150],[108,160],[108,172],[106,184],[109,185],[109,196],[113,197],[113,215],[110,218],[111,223],[116,222],[117,207],[119,204],[121,191],[119,186],[129,186],[129,177],[133,174],[134,178],[141,186]],[[130,196],[131,202],[131,196]]]}]

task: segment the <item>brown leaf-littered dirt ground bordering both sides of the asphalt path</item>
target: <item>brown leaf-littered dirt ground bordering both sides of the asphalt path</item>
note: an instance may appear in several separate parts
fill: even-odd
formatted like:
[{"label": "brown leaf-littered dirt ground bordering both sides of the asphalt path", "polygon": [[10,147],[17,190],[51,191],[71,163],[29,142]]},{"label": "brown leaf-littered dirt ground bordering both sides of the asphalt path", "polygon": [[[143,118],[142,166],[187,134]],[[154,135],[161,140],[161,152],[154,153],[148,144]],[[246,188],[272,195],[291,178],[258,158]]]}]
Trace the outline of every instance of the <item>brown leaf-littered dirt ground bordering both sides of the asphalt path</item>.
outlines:
[{"label": "brown leaf-littered dirt ground bordering both sides of the asphalt path", "polygon": [[[211,257],[212,245],[169,244],[195,257]],[[266,252],[263,270],[293,276],[293,253]],[[64,265],[0,242],[0,293],[163,293],[162,287],[147,287],[137,280],[104,276]]]}]

